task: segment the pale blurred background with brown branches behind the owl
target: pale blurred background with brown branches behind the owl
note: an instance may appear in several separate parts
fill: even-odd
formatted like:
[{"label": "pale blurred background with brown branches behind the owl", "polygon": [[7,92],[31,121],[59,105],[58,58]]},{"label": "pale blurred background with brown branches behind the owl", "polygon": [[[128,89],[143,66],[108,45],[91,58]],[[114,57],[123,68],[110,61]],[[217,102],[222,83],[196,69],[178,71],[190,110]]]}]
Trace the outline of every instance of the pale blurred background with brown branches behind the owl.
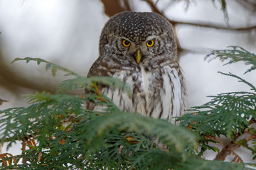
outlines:
[{"label": "pale blurred background with brown branches behind the owl", "polygon": [[[218,60],[205,60],[212,50],[228,46],[256,52],[256,1],[226,0],[226,8],[223,3],[223,0],[0,0],[0,110],[27,106],[23,94],[55,93],[65,79],[61,72],[52,77],[45,64],[23,61],[11,64],[16,57],[40,57],[86,76],[98,57],[98,40],[105,22],[115,13],[127,10],[155,11],[174,24],[186,78],[188,108],[206,103],[210,100],[206,96],[249,91],[248,86],[236,79],[218,74],[231,72],[256,84],[254,72],[244,75],[248,68],[245,64],[223,66]],[[21,152],[17,148],[9,152]]]}]

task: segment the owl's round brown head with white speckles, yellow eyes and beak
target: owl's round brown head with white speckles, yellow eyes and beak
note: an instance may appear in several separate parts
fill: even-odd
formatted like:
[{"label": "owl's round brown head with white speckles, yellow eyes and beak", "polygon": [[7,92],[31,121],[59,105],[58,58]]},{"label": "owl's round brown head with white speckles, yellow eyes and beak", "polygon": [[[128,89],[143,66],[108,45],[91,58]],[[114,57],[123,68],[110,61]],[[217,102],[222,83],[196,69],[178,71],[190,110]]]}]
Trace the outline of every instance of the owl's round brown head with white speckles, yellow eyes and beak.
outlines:
[{"label": "owl's round brown head with white speckles, yellow eyes and beak", "polygon": [[139,64],[176,60],[176,53],[171,23],[157,13],[117,13],[107,21],[100,36],[100,56],[114,54]]}]

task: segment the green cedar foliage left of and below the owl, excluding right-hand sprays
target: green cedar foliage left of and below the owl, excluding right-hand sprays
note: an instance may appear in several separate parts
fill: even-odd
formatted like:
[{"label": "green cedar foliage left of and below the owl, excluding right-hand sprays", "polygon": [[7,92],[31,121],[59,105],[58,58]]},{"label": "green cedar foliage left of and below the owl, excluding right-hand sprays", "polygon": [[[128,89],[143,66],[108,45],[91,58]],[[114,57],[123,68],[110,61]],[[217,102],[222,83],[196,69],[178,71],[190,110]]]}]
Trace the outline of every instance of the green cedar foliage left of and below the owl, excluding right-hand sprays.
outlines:
[{"label": "green cedar foliage left of and below the owl, excluding right-hand sprays", "polygon": [[[2,159],[2,164],[10,159],[23,164],[13,162],[2,169],[154,169],[155,166],[165,169],[195,157],[196,136],[186,128],[166,120],[124,113],[102,94],[70,96],[64,93],[78,88],[95,90],[97,83],[123,88],[129,93],[122,81],[110,77],[82,77],[41,59],[17,60],[46,63],[46,69],[53,75],[61,70],[75,78],[63,81],[58,94],[42,92],[26,96],[30,103],[27,108],[0,111],[1,142],[11,147],[19,140],[25,148],[17,157]],[[106,109],[87,110],[85,103],[92,101]],[[154,139],[166,149],[159,147]],[[174,156],[175,162],[171,159]]]}]

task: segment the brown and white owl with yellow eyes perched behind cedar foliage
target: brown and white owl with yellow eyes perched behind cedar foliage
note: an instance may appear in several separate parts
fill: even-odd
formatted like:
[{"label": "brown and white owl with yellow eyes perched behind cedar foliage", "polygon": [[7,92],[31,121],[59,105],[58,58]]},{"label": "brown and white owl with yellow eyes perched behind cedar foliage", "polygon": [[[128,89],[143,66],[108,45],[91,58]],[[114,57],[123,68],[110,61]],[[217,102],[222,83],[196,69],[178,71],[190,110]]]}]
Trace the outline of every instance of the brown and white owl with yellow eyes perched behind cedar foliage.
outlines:
[{"label": "brown and white owl with yellow eyes perched behind cedar foliage", "polygon": [[186,88],[171,23],[151,12],[112,16],[100,35],[100,56],[87,77],[114,77],[132,91],[100,86],[122,110],[176,123],[185,109]]}]

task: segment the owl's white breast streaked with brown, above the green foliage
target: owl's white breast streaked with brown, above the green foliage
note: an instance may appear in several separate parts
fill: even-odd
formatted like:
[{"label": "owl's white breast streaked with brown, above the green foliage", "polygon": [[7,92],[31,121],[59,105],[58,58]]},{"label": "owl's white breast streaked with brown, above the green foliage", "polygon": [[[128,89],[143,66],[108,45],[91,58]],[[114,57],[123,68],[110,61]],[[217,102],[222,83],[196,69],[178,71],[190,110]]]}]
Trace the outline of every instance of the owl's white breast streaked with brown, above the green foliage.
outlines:
[{"label": "owl's white breast streaked with brown, above the green foliage", "polygon": [[122,111],[137,112],[154,118],[181,115],[184,109],[185,89],[182,74],[175,67],[165,66],[150,72],[146,68],[113,74],[130,87],[132,96],[122,89],[104,89],[103,93],[112,99]]}]

